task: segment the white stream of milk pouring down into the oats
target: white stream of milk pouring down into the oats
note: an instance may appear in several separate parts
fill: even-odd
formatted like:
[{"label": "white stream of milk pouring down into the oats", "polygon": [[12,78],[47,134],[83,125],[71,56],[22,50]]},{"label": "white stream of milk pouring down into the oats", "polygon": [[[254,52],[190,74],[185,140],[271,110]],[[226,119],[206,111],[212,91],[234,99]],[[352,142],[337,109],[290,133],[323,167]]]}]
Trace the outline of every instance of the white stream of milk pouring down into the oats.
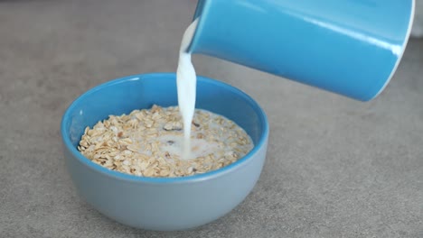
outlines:
[{"label": "white stream of milk pouring down into the oats", "polygon": [[186,50],[189,47],[198,19],[188,26],[183,33],[181,48],[179,49],[178,69],[176,70],[176,87],[178,91],[178,105],[183,118],[183,159],[191,159],[191,123],[195,110],[195,90],[197,78],[191,62],[191,54]]}]

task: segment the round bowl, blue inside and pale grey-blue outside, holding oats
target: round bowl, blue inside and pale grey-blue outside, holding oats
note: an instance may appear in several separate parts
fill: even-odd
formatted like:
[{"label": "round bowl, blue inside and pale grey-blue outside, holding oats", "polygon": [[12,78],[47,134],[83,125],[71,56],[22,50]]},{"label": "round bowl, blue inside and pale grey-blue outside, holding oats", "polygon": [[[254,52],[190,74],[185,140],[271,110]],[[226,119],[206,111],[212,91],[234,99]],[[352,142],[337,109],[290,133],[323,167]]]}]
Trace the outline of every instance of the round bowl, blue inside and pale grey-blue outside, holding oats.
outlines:
[{"label": "round bowl, blue inside and pale grey-blue outside, holding oats", "polygon": [[109,114],[152,105],[177,105],[175,75],[153,73],[118,78],[78,97],[61,121],[66,167],[89,205],[133,227],[172,231],[193,228],[230,212],[249,195],[263,168],[268,120],[260,106],[235,87],[198,77],[197,108],[222,114],[249,133],[255,146],[227,167],[182,178],[145,178],[95,164],[77,145],[86,126]]}]

